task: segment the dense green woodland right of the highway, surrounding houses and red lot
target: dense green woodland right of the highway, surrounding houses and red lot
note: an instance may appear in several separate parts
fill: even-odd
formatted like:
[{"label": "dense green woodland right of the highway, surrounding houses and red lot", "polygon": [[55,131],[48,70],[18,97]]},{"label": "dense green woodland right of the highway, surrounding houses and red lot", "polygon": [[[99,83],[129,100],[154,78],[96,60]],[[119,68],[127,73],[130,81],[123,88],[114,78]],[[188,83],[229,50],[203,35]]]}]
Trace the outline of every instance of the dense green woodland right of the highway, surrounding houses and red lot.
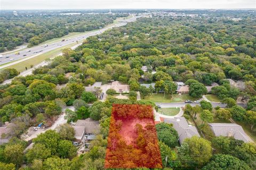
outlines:
[{"label": "dense green woodland right of the highway, surrounding houses and red lot", "polygon": [[[13,136],[20,137],[29,126],[48,121],[59,115],[63,107],[71,105],[76,107],[76,111],[67,112],[68,120],[91,117],[99,120],[101,132],[97,140],[92,141],[90,151],[79,157],[75,154],[76,148],[70,144],[74,132],[68,126],[39,135],[33,140],[34,147],[26,152],[23,150],[27,143],[14,137],[0,146],[0,167],[103,169],[112,104],[155,106],[154,103],[135,101],[134,91],[140,91],[142,96],[152,93],[139,82],[156,82],[157,92],[171,94],[176,88],[172,81],[183,81],[190,85],[189,95],[195,98],[206,93],[204,85],[219,83],[220,86],[214,87],[212,93],[227,103],[227,108],[213,108],[211,103],[203,101],[201,107],[187,105],[185,117],[196,117],[202,112],[200,118],[203,122],[198,128],[203,133],[207,131],[207,123],[215,117],[232,117],[250,125],[255,135],[255,15],[250,14],[237,21],[228,16],[227,12],[225,17],[209,14],[172,18],[155,14],[152,18],[141,18],[124,27],[89,37],[76,50],[63,50],[62,56],[52,60],[48,66],[35,69],[33,75],[16,77],[12,84],[1,85],[1,122],[14,124]],[[230,16],[235,17],[234,13]],[[236,17],[239,16],[236,13]],[[151,66],[156,74],[151,74],[152,70],[144,74],[141,66]],[[68,78],[66,75],[70,72],[71,77]],[[17,74],[17,71],[8,69],[0,77],[3,81]],[[242,80],[245,84],[243,88],[236,88],[224,78]],[[98,94],[84,92],[84,86],[110,80],[129,84],[130,100],[118,100],[109,95],[105,102],[100,102],[95,98]],[[57,84],[66,83],[65,87],[57,89]],[[238,96],[249,100],[247,108],[236,105]],[[93,103],[92,107],[87,103]],[[165,169],[256,168],[256,146],[253,143],[205,135],[191,137],[179,145],[178,134],[172,125],[158,124],[156,131]],[[169,158],[167,161],[166,156]]]}]

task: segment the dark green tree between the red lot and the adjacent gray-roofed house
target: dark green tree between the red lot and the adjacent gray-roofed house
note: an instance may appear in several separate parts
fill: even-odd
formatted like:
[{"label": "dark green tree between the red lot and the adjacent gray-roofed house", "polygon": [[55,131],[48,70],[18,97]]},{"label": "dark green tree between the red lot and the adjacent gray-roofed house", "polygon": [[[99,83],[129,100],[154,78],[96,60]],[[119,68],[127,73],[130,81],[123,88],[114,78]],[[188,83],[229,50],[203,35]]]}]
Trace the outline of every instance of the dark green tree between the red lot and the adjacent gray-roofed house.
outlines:
[{"label": "dark green tree between the red lot and the adjacent gray-roofed house", "polygon": [[159,141],[164,142],[171,148],[178,145],[178,133],[170,124],[159,123],[156,125],[156,132]]}]

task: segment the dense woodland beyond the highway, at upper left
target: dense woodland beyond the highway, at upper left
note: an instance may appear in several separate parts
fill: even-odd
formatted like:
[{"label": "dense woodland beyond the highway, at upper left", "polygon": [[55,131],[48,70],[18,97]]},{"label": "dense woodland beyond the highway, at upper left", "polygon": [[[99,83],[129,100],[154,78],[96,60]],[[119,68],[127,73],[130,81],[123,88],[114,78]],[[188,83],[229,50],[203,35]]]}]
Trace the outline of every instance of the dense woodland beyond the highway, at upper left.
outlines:
[{"label": "dense woodland beyond the highway, at upper left", "polygon": [[116,18],[125,16],[127,15],[60,15],[58,13],[42,15],[28,13],[17,17],[13,14],[4,15],[0,17],[0,52],[12,50],[24,43],[28,43],[28,47],[31,47],[69,33],[99,29],[113,23]]}]

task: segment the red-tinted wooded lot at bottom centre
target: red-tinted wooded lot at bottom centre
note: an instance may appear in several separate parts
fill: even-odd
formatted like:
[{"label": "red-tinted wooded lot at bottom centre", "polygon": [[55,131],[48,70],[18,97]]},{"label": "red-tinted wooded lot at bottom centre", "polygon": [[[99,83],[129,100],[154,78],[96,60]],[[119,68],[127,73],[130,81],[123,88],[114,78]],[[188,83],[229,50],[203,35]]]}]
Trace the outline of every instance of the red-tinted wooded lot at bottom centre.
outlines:
[{"label": "red-tinted wooded lot at bottom centre", "polygon": [[162,168],[153,109],[113,104],[105,168]]}]

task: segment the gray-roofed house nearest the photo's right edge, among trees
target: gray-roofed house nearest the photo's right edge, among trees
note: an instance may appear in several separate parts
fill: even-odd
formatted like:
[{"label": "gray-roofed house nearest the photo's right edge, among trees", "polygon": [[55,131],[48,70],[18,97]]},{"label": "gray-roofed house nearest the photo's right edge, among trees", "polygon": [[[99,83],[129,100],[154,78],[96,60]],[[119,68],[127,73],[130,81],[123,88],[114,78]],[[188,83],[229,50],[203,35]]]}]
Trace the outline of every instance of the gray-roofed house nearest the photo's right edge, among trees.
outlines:
[{"label": "gray-roofed house nearest the photo's right edge, among trees", "polygon": [[209,123],[209,126],[215,136],[234,137],[244,142],[252,142],[240,125],[234,123]]}]

